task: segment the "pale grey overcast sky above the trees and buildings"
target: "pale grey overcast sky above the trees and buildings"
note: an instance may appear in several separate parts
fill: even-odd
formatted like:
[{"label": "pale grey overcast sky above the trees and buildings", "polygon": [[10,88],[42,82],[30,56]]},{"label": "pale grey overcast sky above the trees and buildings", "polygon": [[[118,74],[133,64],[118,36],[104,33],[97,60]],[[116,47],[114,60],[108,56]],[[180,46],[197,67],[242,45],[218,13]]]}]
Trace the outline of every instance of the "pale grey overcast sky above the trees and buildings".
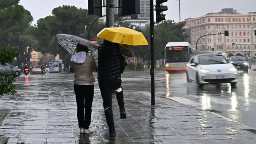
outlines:
[{"label": "pale grey overcast sky above the trees and buildings", "polygon": [[[52,9],[58,6],[71,5],[88,9],[88,0],[20,0],[20,4],[31,12],[34,18],[32,25],[38,19],[51,15]],[[179,1],[168,0],[163,5],[168,6],[168,10],[164,12],[167,14],[166,19],[179,22]],[[189,17],[199,17],[231,7],[242,14],[256,12],[256,0],[180,0],[180,19],[183,21]]]}]

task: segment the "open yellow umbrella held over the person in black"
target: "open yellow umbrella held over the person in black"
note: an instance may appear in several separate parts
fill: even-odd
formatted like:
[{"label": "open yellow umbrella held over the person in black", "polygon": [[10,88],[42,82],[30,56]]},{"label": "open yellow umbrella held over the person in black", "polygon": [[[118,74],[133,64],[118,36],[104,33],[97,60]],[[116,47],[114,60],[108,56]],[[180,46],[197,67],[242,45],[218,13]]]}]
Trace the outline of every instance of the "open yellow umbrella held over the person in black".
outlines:
[{"label": "open yellow umbrella held over the person in black", "polygon": [[104,28],[97,34],[97,38],[119,44],[148,45],[143,33],[124,27]]}]

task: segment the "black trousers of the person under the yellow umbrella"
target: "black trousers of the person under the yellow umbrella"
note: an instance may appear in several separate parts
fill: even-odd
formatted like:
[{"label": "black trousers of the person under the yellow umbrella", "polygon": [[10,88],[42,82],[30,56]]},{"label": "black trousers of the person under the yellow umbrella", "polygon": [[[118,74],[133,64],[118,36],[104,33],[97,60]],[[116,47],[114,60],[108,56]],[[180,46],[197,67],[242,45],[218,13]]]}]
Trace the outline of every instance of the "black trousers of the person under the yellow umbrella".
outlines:
[{"label": "black trousers of the person under the yellow umbrella", "polygon": [[[109,130],[115,130],[114,120],[113,120],[113,111],[112,111],[112,90],[118,89],[121,87],[121,79],[115,81],[102,81],[99,80],[99,87],[101,96],[103,99],[103,108],[106,116],[107,124]],[[116,95],[118,100],[118,105],[121,108],[124,108],[124,94],[123,91],[119,92]]]}]

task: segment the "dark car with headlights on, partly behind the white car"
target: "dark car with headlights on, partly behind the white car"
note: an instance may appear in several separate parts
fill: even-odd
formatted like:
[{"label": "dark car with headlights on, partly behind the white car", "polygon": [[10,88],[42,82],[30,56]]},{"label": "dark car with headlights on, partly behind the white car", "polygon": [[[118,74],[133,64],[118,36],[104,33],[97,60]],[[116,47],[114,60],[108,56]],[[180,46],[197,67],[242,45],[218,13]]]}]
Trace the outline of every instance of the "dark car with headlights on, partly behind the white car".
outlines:
[{"label": "dark car with headlights on, partly behind the white car", "polygon": [[237,68],[237,70],[243,70],[248,73],[250,64],[244,59],[243,56],[232,56],[228,61],[232,63]]}]

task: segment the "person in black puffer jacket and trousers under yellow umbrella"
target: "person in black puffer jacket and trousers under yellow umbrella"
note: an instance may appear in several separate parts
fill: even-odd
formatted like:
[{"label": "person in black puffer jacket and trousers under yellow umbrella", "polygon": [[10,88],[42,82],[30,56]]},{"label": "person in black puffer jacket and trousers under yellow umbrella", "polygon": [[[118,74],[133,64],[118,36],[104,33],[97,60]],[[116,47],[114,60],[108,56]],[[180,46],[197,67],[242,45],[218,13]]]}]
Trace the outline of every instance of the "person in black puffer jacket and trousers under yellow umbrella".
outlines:
[{"label": "person in black puffer jacket and trousers under yellow umbrella", "polygon": [[[125,114],[124,95],[121,87],[119,44],[103,40],[98,48],[98,82],[103,99],[104,113],[109,126],[109,137],[115,137],[115,125],[112,112],[112,90],[119,93],[116,95],[120,114]],[[126,118],[126,115],[125,115]]]}]

